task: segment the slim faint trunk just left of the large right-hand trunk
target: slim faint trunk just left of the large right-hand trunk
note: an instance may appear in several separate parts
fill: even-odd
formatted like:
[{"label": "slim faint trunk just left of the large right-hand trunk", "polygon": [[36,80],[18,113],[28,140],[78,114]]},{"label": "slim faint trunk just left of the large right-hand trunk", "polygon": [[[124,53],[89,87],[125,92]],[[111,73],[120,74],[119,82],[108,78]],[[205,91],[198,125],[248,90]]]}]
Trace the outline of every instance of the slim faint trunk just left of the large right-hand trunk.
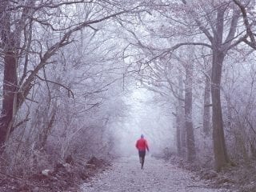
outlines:
[{"label": "slim faint trunk just left of the large right-hand trunk", "polygon": [[206,136],[210,135],[210,79],[206,77],[204,98],[203,98],[203,122],[202,131]]}]

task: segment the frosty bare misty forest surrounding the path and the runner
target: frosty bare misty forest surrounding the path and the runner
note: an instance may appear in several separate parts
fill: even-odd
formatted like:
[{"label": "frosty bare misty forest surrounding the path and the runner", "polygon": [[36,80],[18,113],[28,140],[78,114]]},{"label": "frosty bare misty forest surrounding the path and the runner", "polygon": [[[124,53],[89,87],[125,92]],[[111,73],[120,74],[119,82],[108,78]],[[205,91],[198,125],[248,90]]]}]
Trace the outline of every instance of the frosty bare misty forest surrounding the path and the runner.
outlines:
[{"label": "frosty bare misty forest surrounding the path and the runner", "polygon": [[78,191],[35,186],[138,155],[141,134],[152,158],[256,191],[255,3],[1,0],[1,191]]}]

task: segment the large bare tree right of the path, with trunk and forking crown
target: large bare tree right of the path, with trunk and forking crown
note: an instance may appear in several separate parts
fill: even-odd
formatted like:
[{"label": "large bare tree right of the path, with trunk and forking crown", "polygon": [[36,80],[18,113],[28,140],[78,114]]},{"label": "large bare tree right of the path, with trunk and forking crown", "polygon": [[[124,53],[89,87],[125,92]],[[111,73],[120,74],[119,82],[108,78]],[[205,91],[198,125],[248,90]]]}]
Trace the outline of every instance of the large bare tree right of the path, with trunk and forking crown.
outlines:
[{"label": "large bare tree right of the path, with trunk and forking crown", "polygon": [[[184,2],[184,1],[183,1]],[[212,119],[213,119],[213,141],[214,141],[214,158],[217,170],[230,163],[226,151],[226,142],[223,130],[222,105],[221,105],[221,78],[222,66],[227,52],[234,46],[237,46],[243,35],[239,34],[237,9],[229,5],[228,2],[184,2],[188,15],[193,19],[194,26],[205,35],[208,42],[184,42],[184,45],[202,45],[212,50],[212,67],[211,67],[211,98],[212,98]],[[204,16],[201,17],[199,12],[192,10],[193,6],[202,7]],[[182,10],[182,6],[179,6]],[[191,28],[191,29],[192,29]],[[226,33],[227,31],[227,33]],[[183,45],[178,44],[178,46]],[[176,48],[176,47],[175,47]]]}]

